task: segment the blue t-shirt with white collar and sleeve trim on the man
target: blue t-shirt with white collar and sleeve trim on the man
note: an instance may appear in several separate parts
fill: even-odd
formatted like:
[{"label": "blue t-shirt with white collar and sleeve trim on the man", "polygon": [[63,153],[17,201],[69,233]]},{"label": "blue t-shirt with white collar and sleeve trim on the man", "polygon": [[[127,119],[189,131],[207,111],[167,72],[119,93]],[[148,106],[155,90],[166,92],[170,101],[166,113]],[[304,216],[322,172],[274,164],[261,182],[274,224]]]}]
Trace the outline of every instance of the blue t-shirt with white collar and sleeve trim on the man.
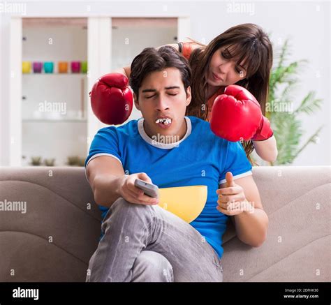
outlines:
[{"label": "blue t-shirt with white collar and sleeve trim on the man", "polygon": [[[186,134],[178,142],[161,144],[145,133],[144,119],[129,121],[119,127],[102,128],[95,135],[85,161],[112,156],[122,163],[126,174],[145,172],[159,188],[175,186],[207,186],[207,202],[201,214],[190,223],[223,255],[222,236],[228,216],[216,209],[219,184],[226,181],[226,172],[240,178],[251,174],[242,144],[229,142],[212,133],[209,122],[185,117]],[[107,207],[100,207],[103,217]]]}]

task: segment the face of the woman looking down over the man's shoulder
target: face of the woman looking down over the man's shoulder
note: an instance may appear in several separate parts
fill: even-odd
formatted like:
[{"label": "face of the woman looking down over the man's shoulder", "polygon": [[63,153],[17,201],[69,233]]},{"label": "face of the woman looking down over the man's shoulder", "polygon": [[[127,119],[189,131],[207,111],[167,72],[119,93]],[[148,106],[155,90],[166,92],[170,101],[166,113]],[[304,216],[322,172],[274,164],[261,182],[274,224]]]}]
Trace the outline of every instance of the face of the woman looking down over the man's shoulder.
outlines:
[{"label": "face of the woman looking down over the man's shoulder", "polygon": [[211,86],[228,86],[244,79],[247,75],[247,67],[237,64],[231,56],[231,48],[220,47],[212,55],[207,70],[207,83]]}]

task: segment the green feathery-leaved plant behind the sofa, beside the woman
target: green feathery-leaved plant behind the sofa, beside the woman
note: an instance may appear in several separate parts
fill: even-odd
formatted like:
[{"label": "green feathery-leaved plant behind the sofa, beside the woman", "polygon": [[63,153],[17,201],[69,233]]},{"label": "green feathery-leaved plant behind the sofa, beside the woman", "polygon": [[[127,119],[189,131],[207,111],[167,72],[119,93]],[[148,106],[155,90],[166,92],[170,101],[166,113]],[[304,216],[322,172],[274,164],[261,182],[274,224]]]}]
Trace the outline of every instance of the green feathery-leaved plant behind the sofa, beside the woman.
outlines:
[{"label": "green feathery-leaved plant behind the sofa, beside the woman", "polygon": [[[284,165],[292,163],[295,158],[307,147],[309,143],[316,143],[318,134],[323,126],[317,128],[309,139],[300,146],[304,132],[300,115],[314,114],[321,108],[321,99],[316,98],[315,91],[308,91],[301,103],[293,109],[293,93],[299,83],[300,68],[307,63],[306,60],[293,61],[286,64],[290,54],[288,40],[281,46],[276,65],[270,75],[270,88],[265,115],[270,119],[270,124],[277,140],[277,161],[270,165]],[[283,110],[283,111],[282,111]],[[285,110],[285,111],[284,111]]]}]

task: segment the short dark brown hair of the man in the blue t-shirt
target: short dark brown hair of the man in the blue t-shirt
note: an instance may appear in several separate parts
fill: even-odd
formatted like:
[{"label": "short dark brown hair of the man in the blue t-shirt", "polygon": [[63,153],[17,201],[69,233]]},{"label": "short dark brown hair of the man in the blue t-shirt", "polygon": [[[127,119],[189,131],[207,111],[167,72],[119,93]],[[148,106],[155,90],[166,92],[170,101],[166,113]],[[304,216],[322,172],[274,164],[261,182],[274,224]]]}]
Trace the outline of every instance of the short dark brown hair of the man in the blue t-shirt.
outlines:
[{"label": "short dark brown hair of the man in the blue t-shirt", "polygon": [[139,89],[145,77],[152,72],[165,68],[177,68],[182,75],[182,82],[186,91],[191,83],[191,68],[186,58],[177,52],[174,47],[165,45],[156,50],[154,47],[146,47],[131,64],[130,86],[139,96]]}]

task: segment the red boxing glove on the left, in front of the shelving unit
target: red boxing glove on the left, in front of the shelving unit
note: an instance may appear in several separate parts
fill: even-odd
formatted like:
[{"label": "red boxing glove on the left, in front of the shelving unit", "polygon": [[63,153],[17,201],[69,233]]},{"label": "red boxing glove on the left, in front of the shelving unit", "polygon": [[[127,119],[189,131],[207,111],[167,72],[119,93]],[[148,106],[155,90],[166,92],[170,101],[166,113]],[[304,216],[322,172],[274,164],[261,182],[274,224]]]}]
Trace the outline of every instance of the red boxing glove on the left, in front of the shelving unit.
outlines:
[{"label": "red boxing glove on the left, in front of the shelving unit", "polygon": [[130,117],[133,96],[128,88],[128,77],[121,73],[103,75],[94,84],[90,94],[91,107],[104,124],[122,124]]}]

